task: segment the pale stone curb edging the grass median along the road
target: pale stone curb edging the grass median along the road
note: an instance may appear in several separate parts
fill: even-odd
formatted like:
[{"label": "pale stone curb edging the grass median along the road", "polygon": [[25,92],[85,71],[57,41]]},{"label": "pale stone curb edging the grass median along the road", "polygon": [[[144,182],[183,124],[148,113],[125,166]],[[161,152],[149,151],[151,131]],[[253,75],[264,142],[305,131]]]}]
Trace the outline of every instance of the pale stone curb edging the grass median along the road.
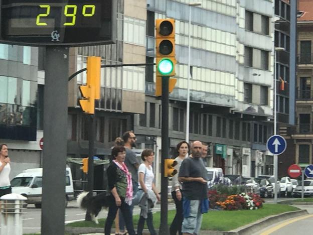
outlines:
[{"label": "pale stone curb edging the grass median along the road", "polygon": [[[230,231],[212,231],[212,230],[201,230],[200,234],[201,235],[250,235],[253,233],[256,233],[260,230],[262,230],[264,227],[270,226],[272,224],[281,222],[282,220],[285,219],[290,219],[293,217],[301,216],[301,215],[306,215],[308,214],[307,210],[296,210],[296,211],[289,211],[289,212],[284,212],[281,214],[277,215],[271,215],[267,216],[265,218],[259,219],[253,223],[250,223],[248,225],[239,227],[237,229],[233,229]],[[158,229],[155,229],[158,232]],[[65,231],[68,233],[71,233],[72,235],[74,234],[82,234],[82,233],[103,233],[104,228],[102,227],[65,227]],[[147,229],[143,230],[144,232],[148,233]],[[115,232],[115,229],[112,229],[111,232]]]}]

